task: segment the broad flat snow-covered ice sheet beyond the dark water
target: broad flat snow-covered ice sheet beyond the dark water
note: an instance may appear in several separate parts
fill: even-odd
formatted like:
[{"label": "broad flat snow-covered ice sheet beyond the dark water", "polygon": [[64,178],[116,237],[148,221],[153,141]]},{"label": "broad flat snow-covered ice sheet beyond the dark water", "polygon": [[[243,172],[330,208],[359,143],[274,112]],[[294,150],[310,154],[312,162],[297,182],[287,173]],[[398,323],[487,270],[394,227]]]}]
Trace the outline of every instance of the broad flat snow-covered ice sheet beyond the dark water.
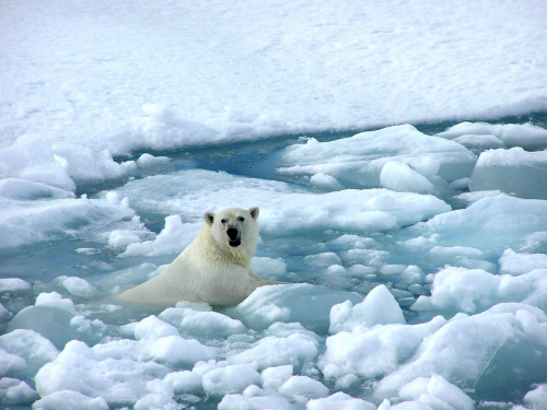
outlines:
[{"label": "broad flat snow-covered ice sheet beyond the dark water", "polygon": [[120,154],[538,112],[544,17],[535,1],[15,2],[0,22],[3,143],[40,132]]}]

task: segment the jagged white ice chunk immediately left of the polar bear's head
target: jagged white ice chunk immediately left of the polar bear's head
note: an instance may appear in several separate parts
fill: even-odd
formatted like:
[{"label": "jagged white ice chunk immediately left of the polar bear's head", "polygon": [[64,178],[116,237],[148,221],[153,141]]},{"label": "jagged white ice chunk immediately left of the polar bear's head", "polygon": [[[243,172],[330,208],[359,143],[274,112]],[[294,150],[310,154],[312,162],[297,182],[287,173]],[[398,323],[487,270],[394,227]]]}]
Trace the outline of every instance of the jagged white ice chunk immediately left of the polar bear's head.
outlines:
[{"label": "jagged white ice chunk immediately left of the polar bear's head", "polygon": [[165,227],[153,241],[135,241],[127,246],[120,257],[159,256],[178,254],[195,238],[202,223],[183,223],[179,215],[165,218]]}]

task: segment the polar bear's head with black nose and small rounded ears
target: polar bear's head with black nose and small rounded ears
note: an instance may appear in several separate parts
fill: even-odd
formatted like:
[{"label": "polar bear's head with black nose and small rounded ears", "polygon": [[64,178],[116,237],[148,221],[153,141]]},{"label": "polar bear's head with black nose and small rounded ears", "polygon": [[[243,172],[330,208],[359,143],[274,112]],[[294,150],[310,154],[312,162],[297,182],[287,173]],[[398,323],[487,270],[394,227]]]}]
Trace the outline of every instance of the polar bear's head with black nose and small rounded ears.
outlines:
[{"label": "polar bear's head with black nose and small rounded ears", "polygon": [[248,211],[226,208],[216,214],[206,212],[203,219],[219,246],[225,250],[243,250],[254,254],[258,241],[258,208]]}]

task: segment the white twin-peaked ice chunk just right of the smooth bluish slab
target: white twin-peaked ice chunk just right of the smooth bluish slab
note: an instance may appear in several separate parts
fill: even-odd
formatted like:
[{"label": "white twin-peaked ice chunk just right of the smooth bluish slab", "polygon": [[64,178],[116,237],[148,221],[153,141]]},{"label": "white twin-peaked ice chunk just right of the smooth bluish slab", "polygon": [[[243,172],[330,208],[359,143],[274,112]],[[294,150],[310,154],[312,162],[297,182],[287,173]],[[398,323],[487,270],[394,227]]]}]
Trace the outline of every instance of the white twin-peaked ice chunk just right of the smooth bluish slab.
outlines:
[{"label": "white twin-peaked ice chunk just right of the smooth bluish slab", "polygon": [[383,284],[374,288],[366,297],[354,305],[351,301],[330,309],[330,333],[361,331],[374,325],[406,324],[403,311]]}]

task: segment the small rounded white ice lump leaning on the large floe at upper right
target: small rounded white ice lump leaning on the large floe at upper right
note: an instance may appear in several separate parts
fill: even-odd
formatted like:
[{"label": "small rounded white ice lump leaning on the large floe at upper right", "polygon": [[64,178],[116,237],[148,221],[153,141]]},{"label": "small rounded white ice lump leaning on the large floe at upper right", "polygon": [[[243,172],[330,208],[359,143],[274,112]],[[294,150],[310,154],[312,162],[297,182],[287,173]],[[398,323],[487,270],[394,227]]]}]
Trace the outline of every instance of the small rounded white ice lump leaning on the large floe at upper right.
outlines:
[{"label": "small rounded white ice lump leaning on the large floe at upper right", "polygon": [[396,161],[386,162],[380,173],[380,185],[399,192],[418,192],[435,195],[433,184],[407,164]]}]

